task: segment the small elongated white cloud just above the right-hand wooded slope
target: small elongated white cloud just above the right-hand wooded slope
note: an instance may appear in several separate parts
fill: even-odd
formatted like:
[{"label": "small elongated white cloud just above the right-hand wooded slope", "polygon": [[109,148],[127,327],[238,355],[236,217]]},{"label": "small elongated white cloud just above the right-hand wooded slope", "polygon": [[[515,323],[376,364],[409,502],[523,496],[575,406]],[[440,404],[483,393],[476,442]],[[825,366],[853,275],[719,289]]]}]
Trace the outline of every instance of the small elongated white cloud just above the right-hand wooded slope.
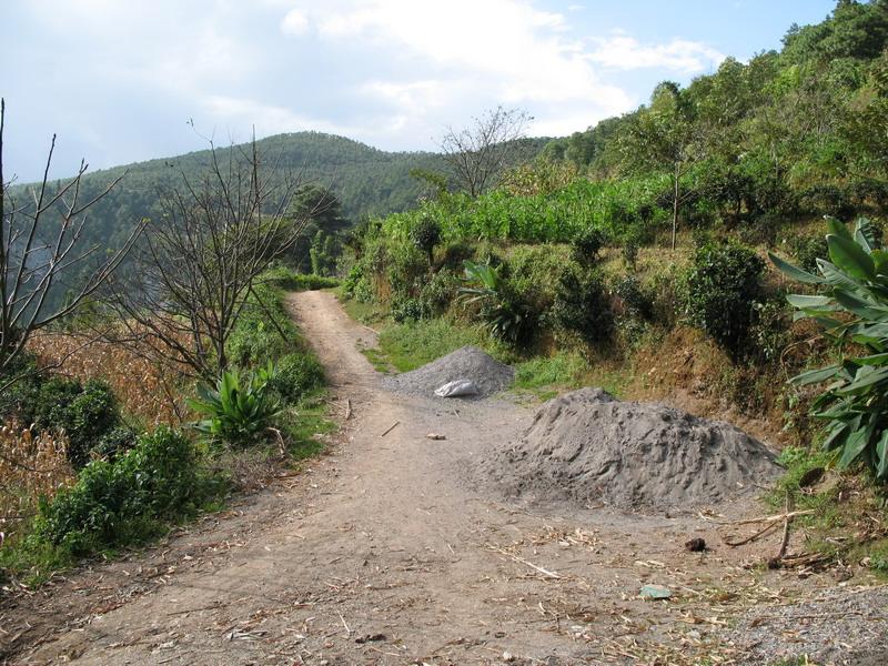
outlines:
[{"label": "small elongated white cloud just above the right-hand wooded slope", "polygon": [[593,62],[614,69],[666,69],[683,74],[713,70],[724,59],[724,54],[700,42],[674,39],[665,44],[642,44],[625,33],[599,40],[589,54]]}]

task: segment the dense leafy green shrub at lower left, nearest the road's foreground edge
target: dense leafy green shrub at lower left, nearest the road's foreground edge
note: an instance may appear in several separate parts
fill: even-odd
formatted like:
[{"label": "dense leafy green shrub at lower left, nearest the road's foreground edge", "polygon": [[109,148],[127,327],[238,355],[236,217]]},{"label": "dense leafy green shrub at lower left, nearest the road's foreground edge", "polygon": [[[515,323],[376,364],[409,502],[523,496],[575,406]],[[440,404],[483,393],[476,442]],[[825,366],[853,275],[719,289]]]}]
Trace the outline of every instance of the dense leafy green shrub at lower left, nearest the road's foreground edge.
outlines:
[{"label": "dense leafy green shrub at lower left, nearest the road's foreground edge", "polygon": [[30,538],[82,556],[154,536],[211,495],[199,462],[181,433],[160,427],[115,462],[91,462],[73,486],[41,502]]}]

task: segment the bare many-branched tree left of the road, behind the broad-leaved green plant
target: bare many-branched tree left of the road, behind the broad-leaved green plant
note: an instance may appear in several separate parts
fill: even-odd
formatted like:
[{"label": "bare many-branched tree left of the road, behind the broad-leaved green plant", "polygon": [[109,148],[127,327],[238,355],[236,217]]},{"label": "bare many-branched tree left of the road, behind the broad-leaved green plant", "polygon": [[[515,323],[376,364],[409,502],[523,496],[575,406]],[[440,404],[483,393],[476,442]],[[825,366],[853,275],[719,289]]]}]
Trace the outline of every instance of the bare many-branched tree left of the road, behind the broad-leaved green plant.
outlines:
[{"label": "bare many-branched tree left of the road, behind the broad-leaved green plant", "polygon": [[211,142],[210,160],[203,176],[182,172],[178,188],[160,193],[163,214],[107,297],[125,330],[118,342],[208,381],[229,365],[226,343],[260,275],[313,213],[287,215],[302,176],[263,168],[255,141],[225,158]]}]

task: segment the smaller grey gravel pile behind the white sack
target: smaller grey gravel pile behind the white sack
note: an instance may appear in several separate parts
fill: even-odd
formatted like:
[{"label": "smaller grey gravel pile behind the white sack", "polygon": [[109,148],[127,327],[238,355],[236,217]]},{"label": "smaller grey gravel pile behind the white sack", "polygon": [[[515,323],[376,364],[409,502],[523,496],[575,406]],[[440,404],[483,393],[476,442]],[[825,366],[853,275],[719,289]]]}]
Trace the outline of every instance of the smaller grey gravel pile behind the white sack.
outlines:
[{"label": "smaller grey gravel pile behind the white sack", "polygon": [[514,379],[515,371],[508,365],[475,346],[464,346],[412,372],[385,377],[383,386],[406,395],[435,397],[438,386],[471,380],[478,389],[478,394],[472,397],[486,397],[506,389]]}]

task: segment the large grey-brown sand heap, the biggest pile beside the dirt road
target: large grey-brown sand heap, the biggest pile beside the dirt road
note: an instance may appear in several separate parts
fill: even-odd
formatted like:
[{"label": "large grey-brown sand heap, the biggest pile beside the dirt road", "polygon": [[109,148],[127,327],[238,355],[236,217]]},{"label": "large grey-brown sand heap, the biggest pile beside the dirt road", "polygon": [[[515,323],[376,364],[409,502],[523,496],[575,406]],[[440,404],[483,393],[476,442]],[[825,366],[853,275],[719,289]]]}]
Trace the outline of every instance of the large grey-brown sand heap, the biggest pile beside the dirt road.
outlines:
[{"label": "large grey-brown sand heap, the biggest pile beside the dirt road", "polygon": [[522,438],[484,465],[511,496],[677,509],[753,492],[779,472],[764,444],[727,423],[601,389],[549,401]]}]

